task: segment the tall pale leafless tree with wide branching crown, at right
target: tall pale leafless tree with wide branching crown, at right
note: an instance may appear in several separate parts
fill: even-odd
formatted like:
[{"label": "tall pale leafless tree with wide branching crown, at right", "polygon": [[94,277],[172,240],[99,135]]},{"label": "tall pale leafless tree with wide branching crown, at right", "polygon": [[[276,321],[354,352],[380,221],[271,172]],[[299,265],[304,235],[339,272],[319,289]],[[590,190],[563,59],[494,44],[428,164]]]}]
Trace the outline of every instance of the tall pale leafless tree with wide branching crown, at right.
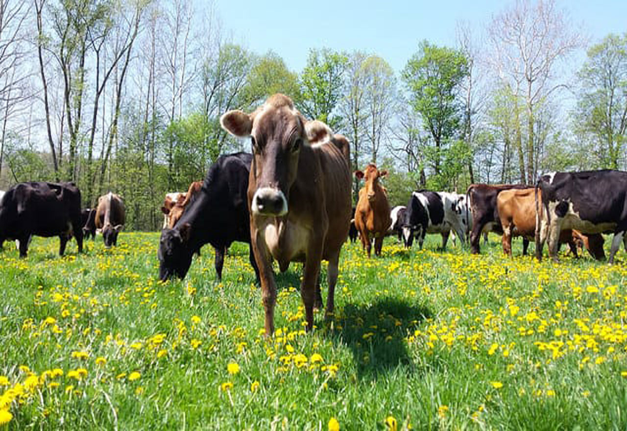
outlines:
[{"label": "tall pale leafless tree with wide branching crown, at right", "polygon": [[[493,70],[508,91],[524,102],[517,118],[521,182],[534,182],[539,162],[534,138],[538,105],[564,86],[555,80],[560,61],[582,46],[581,33],[567,27],[567,17],[554,0],[520,0],[495,16],[488,28]],[[523,126],[525,122],[525,126]],[[524,142],[526,140],[526,143]]]}]

